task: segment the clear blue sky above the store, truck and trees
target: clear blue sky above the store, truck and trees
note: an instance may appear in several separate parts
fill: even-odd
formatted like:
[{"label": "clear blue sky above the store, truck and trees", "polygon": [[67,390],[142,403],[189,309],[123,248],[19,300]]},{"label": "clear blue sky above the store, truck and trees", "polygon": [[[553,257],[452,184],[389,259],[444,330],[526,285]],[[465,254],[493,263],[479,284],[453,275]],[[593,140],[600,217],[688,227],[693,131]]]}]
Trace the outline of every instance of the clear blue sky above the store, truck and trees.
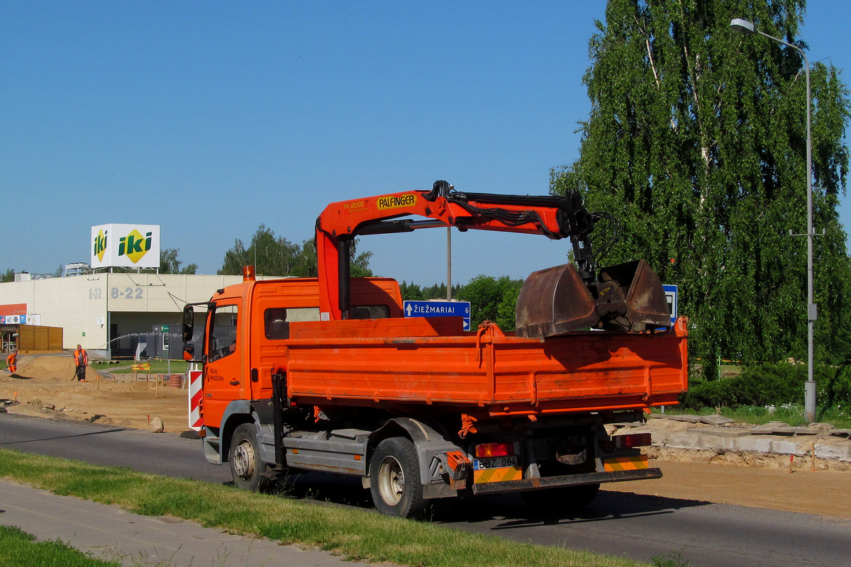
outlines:
[{"label": "clear blue sky above the store, truck and trees", "polygon": [[[604,7],[5,0],[0,269],[88,262],[89,227],[139,223],[214,274],[261,223],[310,238],[332,201],[436,179],[545,194],[550,167],[578,155]],[[849,28],[851,3],[811,1],[810,60],[851,67]],[[367,236],[360,250],[377,274],[429,285],[445,279],[445,236]],[[462,283],[568,252],[523,235],[456,231],[453,245]]]}]

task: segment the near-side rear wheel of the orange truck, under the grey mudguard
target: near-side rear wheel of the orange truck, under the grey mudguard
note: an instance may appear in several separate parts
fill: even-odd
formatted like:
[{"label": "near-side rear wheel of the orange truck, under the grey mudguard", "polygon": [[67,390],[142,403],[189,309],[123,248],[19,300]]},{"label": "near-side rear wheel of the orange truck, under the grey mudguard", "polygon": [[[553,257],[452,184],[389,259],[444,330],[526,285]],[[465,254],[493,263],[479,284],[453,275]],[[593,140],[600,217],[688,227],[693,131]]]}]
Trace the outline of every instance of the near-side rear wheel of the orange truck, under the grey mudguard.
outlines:
[{"label": "near-side rear wheel of the orange truck, under the grey mudguard", "polygon": [[417,451],[410,439],[381,441],[369,463],[369,477],[369,490],[380,513],[409,518],[426,507]]}]

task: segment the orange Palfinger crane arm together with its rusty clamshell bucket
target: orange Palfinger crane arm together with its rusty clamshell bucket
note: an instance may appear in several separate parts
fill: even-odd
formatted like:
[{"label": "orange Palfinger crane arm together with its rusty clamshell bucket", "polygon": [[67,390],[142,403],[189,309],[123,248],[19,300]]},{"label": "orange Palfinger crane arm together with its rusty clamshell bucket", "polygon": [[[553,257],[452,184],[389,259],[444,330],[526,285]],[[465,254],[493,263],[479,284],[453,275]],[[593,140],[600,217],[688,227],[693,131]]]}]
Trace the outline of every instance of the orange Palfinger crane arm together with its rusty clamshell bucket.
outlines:
[{"label": "orange Palfinger crane arm together with its rusty clamshell bucket", "polygon": [[[619,273],[620,279],[630,280],[625,288],[620,281],[614,281],[613,285],[610,274],[612,269],[608,269],[608,272],[601,270],[605,280],[597,276],[597,256],[614,243],[614,238],[609,238],[602,246],[593,246],[592,233],[600,220],[611,221],[617,229],[617,223],[610,215],[588,213],[578,193],[567,196],[463,193],[455,191],[451,184],[443,180],[435,182],[431,191],[403,191],[331,203],[317,218],[320,309],[331,320],[349,317],[349,251],[351,241],[358,235],[391,234],[448,226],[462,231],[497,230],[545,235],[553,240],[570,239],[578,268],[565,264],[558,266],[555,272],[549,269],[529,276],[527,283],[530,292],[525,294],[526,299],[523,299],[524,294],[521,292],[521,299],[518,300],[518,334],[551,336],[574,330],[576,325],[596,326],[601,320],[615,320],[617,316],[621,319],[619,326],[625,327],[625,330],[642,330],[647,324],[670,325],[661,284],[658,290],[651,289],[654,283],[658,283],[658,277],[652,274],[647,264],[637,266],[640,269],[633,270],[633,274],[623,274],[623,269],[614,270]],[[626,270],[630,271],[629,268]],[[655,278],[655,282],[649,281],[643,286],[643,295],[646,296],[648,290],[653,291],[650,294],[654,299],[650,309],[652,315],[638,315],[634,318],[643,316],[643,320],[629,321],[624,325],[623,315],[629,315],[626,311],[631,308],[625,308],[623,303],[631,292],[631,281],[636,279],[633,276],[637,272],[642,276],[648,275],[648,270],[652,274],[650,280]],[[531,291],[533,289],[534,292]],[[601,292],[605,298],[601,297]],[[541,293],[551,297],[542,303]],[[613,299],[617,303],[614,308]],[[571,305],[580,305],[581,315],[575,315],[575,309],[568,309],[570,315],[564,315],[565,301]],[[647,298],[642,301],[647,303]],[[559,310],[560,315],[546,313],[557,304],[562,304],[562,307],[553,309]],[[601,312],[601,307],[605,313]],[[663,310],[665,313],[662,313]],[[632,311],[632,315],[637,315],[635,309]],[[611,315],[614,312],[617,312],[617,316]],[[565,316],[571,320],[563,320]],[[542,317],[544,320],[539,320]],[[560,318],[562,322],[552,325],[554,317]],[[635,328],[635,324],[641,326],[641,329]]]}]

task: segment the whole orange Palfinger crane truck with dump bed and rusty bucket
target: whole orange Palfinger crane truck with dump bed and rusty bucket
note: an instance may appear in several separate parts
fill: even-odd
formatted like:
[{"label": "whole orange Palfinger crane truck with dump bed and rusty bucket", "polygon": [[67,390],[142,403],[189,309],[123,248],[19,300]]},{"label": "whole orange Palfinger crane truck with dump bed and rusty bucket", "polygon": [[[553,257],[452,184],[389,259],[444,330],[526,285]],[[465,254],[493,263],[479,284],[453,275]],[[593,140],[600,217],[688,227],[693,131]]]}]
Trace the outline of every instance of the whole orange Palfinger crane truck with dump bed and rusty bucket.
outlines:
[{"label": "whole orange Palfinger crane truck with dump bed and rusty bucket", "polygon": [[[429,219],[399,220],[411,215]],[[590,235],[605,220],[578,196],[460,194],[445,182],[328,206],[317,278],[256,281],[249,268],[206,303],[204,454],[251,490],[288,470],[356,475],[395,516],[510,491],[580,507],[601,483],[660,477],[641,454],[649,434],[607,426],[677,403],[686,321],[671,325],[647,264],[597,269]],[[356,235],[432,226],[569,238],[579,262],[528,277],[515,332],[405,317],[396,281],[349,276]]]}]

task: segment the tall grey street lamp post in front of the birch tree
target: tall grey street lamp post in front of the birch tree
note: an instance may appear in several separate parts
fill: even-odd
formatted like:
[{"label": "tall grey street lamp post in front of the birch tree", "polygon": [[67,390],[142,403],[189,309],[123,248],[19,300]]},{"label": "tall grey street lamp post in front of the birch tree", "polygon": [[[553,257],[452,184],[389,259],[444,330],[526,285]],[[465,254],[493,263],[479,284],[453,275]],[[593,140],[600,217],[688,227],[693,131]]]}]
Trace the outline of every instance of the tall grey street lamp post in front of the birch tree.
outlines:
[{"label": "tall grey street lamp post in front of the birch tree", "polygon": [[736,18],[730,22],[735,31],[745,34],[768,37],[773,42],[795,49],[803,59],[807,77],[807,382],[804,383],[803,411],[807,422],[815,421],[815,381],[813,379],[813,332],[818,312],[813,303],[813,142],[810,135],[810,107],[812,106],[809,88],[809,60],[802,48],[786,43],[779,37],[769,36],[757,30],[751,22]]}]

